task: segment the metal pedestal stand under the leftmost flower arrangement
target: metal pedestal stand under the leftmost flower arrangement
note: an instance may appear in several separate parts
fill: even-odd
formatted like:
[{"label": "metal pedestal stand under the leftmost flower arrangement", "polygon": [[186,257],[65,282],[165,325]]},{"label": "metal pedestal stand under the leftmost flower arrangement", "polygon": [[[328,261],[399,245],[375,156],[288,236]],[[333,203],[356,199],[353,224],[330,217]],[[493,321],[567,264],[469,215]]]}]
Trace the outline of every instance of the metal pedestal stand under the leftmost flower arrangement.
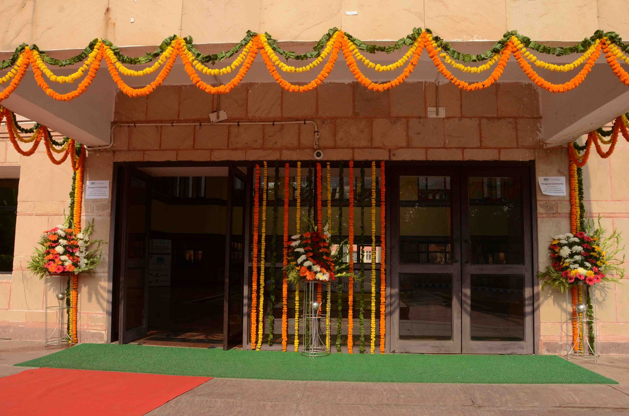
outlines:
[{"label": "metal pedestal stand under the leftmost flower arrangement", "polygon": [[[65,292],[68,287],[68,281],[72,276],[72,273],[60,273],[60,274],[47,274],[45,277],[46,293],[45,299],[45,313],[44,313],[44,346],[50,345],[67,345],[70,343],[72,337],[68,333],[67,320],[65,319],[68,312],[72,312],[72,307],[67,306],[65,303]],[[48,306],[48,285],[50,283],[50,289],[55,293],[58,305]],[[58,284],[57,284],[58,283]],[[57,312],[57,322],[55,323],[55,329],[52,334],[48,336],[48,311],[54,310]]]}]

